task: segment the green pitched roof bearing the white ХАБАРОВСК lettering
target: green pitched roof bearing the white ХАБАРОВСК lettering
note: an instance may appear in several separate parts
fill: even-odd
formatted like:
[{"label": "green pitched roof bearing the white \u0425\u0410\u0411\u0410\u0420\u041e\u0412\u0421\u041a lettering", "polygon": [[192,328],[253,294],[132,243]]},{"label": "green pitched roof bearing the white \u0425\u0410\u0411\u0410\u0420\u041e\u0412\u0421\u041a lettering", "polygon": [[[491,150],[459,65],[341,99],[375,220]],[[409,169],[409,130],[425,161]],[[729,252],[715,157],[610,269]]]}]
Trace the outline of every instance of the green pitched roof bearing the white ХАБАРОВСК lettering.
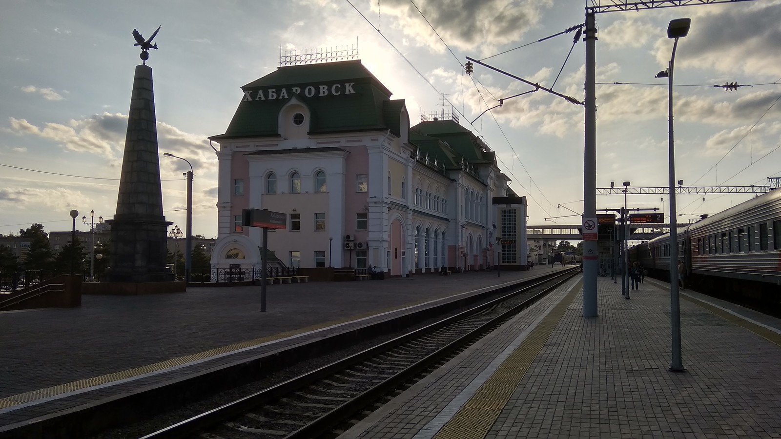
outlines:
[{"label": "green pitched roof bearing the white \u0425\u0410\u0411\u0410\u0420\u041e\u0412\u0421\u041a lettering", "polygon": [[[320,95],[321,86],[326,86],[325,95]],[[314,93],[307,96],[307,87],[314,87]],[[359,60],[279,67],[241,90],[244,95],[225,134],[210,139],[279,136],[280,109],[292,98],[311,113],[309,134],[398,131],[398,114],[404,105],[403,99],[391,101],[391,91]]]}]

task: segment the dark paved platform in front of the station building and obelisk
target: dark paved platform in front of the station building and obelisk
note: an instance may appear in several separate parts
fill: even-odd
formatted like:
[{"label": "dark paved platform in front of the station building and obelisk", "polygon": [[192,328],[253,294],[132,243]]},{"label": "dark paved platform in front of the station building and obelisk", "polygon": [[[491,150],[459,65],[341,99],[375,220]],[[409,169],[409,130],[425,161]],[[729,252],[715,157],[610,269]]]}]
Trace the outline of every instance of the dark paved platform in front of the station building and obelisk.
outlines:
[{"label": "dark paved platform in front of the station building and obelisk", "polygon": [[84,295],[72,309],[0,312],[0,437],[280,348],[564,267],[366,282]]}]

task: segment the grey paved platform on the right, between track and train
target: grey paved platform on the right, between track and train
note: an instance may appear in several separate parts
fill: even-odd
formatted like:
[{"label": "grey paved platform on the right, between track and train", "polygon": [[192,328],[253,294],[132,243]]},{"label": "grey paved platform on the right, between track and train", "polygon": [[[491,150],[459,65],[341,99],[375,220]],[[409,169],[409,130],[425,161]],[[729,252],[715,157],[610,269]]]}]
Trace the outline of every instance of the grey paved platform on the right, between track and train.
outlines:
[{"label": "grey paved platform on the right, between track and train", "polygon": [[781,437],[781,321],[681,291],[686,372],[669,371],[669,284],[576,277],[340,437]]}]

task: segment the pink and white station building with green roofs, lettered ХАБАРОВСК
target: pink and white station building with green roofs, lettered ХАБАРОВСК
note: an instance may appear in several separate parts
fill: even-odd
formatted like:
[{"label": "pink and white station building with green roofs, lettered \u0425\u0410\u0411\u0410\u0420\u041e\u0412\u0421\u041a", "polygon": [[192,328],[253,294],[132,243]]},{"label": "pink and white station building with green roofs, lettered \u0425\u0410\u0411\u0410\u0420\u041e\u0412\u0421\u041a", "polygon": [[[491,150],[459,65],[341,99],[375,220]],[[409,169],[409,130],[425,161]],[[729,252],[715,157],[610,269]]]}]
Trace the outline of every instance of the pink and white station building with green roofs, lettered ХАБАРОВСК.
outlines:
[{"label": "pink and white station building with green roofs, lettered \u0425\u0410\u0411\u0410\u0420\u041e\u0412\u0421\u041a", "polygon": [[[219,144],[212,267],[261,266],[262,230],[241,225],[251,208],[287,214],[267,247],[288,267],[406,276],[496,264],[491,200],[526,198],[456,120],[410,127],[404,99],[359,60],[281,66],[241,90],[226,132],[209,137]],[[526,230],[525,211],[519,219]]]}]

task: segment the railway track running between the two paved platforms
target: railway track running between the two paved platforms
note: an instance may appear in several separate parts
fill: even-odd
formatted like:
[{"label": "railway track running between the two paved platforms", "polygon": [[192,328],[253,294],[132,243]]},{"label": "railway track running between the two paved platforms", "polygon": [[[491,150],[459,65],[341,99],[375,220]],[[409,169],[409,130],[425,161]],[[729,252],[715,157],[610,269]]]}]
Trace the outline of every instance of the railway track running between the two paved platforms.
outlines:
[{"label": "railway track running between the two paved platforms", "polygon": [[319,437],[424,377],[576,274],[522,287],[142,439]]}]

